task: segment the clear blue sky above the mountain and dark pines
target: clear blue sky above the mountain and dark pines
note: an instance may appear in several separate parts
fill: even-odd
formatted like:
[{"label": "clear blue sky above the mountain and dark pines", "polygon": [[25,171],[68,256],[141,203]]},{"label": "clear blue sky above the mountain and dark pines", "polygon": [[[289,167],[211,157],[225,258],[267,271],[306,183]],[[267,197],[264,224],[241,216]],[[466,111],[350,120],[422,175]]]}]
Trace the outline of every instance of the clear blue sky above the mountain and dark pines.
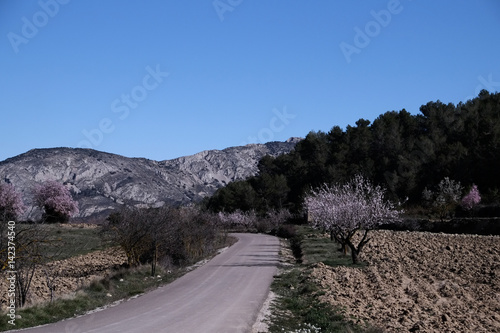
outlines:
[{"label": "clear blue sky above the mountain and dark pines", "polygon": [[155,160],[500,91],[500,2],[0,1],[0,160]]}]

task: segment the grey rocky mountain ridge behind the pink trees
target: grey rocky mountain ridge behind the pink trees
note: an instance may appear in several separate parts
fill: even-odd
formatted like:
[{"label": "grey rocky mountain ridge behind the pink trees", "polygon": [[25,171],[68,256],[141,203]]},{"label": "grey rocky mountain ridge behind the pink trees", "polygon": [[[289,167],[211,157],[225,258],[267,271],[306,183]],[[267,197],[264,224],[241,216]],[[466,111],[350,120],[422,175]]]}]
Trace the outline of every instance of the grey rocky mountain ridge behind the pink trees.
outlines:
[{"label": "grey rocky mountain ridge behind the pink trees", "polygon": [[300,139],[208,150],[172,160],[128,158],[92,149],[33,149],[0,162],[0,181],[22,193],[24,218],[41,212],[31,202],[37,182],[66,184],[79,203],[77,217],[104,215],[123,204],[162,206],[196,202],[234,180],[255,175],[258,161],[290,152]]}]

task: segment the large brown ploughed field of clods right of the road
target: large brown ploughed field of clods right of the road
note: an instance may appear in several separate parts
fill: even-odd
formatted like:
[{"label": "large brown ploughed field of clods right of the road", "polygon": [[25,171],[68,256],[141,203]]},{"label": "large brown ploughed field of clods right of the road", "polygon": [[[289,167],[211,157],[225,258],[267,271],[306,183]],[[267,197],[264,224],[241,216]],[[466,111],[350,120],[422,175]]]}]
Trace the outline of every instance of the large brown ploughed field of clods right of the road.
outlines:
[{"label": "large brown ploughed field of clods right of the road", "polygon": [[314,267],[322,301],[387,332],[500,332],[500,237],[371,235],[366,267]]}]

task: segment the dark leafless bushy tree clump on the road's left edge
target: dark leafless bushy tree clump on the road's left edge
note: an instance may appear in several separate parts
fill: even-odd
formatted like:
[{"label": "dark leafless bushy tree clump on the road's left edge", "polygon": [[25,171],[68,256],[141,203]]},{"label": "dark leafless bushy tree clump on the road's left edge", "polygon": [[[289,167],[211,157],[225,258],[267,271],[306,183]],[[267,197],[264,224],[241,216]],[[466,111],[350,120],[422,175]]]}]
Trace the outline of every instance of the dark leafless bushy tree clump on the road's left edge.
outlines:
[{"label": "dark leafless bushy tree clump on the road's left edge", "polygon": [[214,219],[194,207],[125,208],[109,216],[103,232],[125,251],[130,266],[150,263],[154,275],[160,260],[182,265],[214,251]]}]

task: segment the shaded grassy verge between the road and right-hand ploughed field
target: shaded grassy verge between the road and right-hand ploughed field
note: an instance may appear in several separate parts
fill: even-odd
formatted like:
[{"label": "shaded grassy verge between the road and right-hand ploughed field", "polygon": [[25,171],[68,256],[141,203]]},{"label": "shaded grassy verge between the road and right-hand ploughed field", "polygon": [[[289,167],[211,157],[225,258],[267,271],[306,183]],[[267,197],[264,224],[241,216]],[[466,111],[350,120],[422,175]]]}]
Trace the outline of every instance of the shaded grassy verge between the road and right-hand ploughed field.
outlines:
[{"label": "shaded grassy verge between the road and right-hand ploughed field", "polygon": [[[279,274],[271,286],[277,295],[272,308],[269,332],[296,333],[379,333],[376,327],[361,327],[344,318],[337,309],[319,301],[324,292],[312,282],[312,266],[322,262],[329,266],[363,267],[352,264],[339,251],[340,245],[308,226],[284,226]],[[300,248],[300,251],[297,249]],[[295,250],[293,250],[295,248]]]}]

